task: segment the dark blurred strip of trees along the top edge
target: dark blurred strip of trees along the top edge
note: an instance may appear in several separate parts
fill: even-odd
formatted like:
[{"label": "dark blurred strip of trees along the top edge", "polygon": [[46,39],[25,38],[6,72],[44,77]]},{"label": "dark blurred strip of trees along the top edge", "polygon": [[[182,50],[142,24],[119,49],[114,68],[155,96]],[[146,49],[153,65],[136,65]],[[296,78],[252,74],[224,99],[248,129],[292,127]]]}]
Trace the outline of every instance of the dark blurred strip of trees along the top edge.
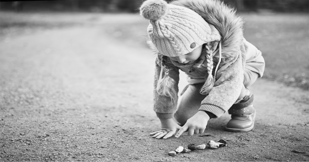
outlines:
[{"label": "dark blurred strip of trees along the top edge", "polygon": [[[13,11],[84,11],[84,12],[138,12],[144,0],[56,0],[14,1],[1,0],[0,9]],[[167,0],[172,1],[172,0]],[[308,12],[308,0],[223,0],[238,12],[275,11]]]}]

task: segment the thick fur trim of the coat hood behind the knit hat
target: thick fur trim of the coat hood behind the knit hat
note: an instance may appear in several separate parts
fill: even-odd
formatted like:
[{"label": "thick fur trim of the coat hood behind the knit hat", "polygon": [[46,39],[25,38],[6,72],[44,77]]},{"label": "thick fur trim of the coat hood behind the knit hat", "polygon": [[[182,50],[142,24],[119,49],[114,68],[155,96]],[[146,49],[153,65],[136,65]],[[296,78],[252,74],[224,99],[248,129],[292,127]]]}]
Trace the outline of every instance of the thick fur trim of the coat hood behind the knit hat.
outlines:
[{"label": "thick fur trim of the coat hood behind the knit hat", "polygon": [[233,8],[219,0],[176,0],[170,4],[189,8],[214,25],[222,39],[222,58],[234,57],[240,52],[244,21]]}]

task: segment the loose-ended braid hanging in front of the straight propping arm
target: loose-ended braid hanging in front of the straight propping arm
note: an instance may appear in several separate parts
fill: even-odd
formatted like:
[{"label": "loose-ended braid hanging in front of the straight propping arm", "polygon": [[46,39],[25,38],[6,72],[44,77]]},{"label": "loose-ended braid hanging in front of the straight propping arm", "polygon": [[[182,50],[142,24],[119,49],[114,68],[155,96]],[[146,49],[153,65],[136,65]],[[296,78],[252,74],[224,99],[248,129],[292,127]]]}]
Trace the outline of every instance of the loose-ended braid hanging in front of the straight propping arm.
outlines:
[{"label": "loose-ended braid hanging in front of the straight propping arm", "polygon": [[[171,97],[172,103],[176,105],[176,101],[178,97],[177,92],[174,89],[174,85],[176,81],[168,75],[170,70],[172,70],[173,68],[170,68],[167,65],[166,63],[167,56],[164,56],[162,54],[160,55],[161,55],[161,72],[160,72],[160,76],[159,76],[159,80],[157,84],[157,92],[159,95]],[[164,77],[162,78],[163,71],[164,71]]]}]

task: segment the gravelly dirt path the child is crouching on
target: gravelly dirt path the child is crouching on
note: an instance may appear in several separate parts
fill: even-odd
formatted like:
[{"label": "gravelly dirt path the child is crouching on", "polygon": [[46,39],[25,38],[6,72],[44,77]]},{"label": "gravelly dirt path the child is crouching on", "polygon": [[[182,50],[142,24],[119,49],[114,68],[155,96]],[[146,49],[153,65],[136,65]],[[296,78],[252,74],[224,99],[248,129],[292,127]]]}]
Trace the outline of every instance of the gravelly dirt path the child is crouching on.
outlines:
[{"label": "gravelly dirt path the child is crouching on", "polygon": [[[97,26],[0,43],[0,161],[309,161],[306,91],[259,79],[251,87],[252,131],[224,131],[224,114],[201,134],[212,136],[158,140],[149,135],[160,129],[152,110],[154,56],[143,45]],[[228,145],[167,154],[219,139]]]}]

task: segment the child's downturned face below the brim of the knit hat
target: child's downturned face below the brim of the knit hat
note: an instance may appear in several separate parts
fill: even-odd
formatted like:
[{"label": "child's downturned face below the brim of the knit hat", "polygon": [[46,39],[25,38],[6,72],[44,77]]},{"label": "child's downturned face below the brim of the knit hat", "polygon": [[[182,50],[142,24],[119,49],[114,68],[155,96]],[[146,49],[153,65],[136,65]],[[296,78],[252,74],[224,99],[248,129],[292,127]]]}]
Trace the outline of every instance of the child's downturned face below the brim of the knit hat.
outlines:
[{"label": "child's downturned face below the brim of the knit hat", "polygon": [[171,60],[177,61],[181,64],[192,64],[195,60],[200,58],[202,53],[202,45],[194,49],[192,52],[182,56],[170,57]]}]

